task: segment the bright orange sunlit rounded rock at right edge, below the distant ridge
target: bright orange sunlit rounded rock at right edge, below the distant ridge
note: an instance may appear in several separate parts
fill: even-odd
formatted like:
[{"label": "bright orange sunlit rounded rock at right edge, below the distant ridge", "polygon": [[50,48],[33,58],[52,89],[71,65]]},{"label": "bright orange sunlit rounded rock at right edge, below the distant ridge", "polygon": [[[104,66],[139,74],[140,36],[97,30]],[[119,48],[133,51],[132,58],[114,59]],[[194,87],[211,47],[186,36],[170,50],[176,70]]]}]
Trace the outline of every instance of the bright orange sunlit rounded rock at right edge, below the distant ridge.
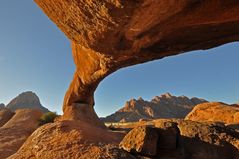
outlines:
[{"label": "bright orange sunlit rounded rock at right edge, below the distant ridge", "polygon": [[195,106],[185,119],[239,124],[239,107],[218,102],[203,103]]}]

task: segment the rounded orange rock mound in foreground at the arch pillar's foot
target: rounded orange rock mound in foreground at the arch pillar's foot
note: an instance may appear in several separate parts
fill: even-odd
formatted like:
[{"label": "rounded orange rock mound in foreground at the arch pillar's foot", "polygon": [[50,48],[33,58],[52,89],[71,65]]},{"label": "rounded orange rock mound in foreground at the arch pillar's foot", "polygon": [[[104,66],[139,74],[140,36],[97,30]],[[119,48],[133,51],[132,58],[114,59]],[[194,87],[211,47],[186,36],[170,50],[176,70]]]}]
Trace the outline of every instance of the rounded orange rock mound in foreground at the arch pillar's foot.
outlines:
[{"label": "rounded orange rock mound in foreground at the arch pillar's foot", "polygon": [[134,159],[117,148],[123,136],[81,121],[55,122],[37,129],[10,158]]}]

